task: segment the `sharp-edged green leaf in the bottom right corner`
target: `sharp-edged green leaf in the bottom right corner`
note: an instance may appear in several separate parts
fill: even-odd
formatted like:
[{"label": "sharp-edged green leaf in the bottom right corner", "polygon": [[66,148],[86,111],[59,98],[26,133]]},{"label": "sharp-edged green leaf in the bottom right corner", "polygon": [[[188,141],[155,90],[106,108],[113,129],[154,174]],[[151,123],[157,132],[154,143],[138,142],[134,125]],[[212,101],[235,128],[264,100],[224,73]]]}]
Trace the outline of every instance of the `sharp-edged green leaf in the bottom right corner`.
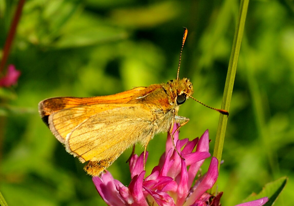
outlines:
[{"label": "sharp-edged green leaf in the bottom right corner", "polygon": [[247,197],[244,202],[249,202],[252,200],[256,200],[262,197],[268,197],[268,202],[265,203],[264,206],[271,206],[274,204],[275,200],[278,198],[282,190],[284,189],[286,183],[288,181],[288,177],[281,177],[278,180],[273,182],[269,182],[263,188],[263,190],[256,195],[252,193],[249,197]]}]

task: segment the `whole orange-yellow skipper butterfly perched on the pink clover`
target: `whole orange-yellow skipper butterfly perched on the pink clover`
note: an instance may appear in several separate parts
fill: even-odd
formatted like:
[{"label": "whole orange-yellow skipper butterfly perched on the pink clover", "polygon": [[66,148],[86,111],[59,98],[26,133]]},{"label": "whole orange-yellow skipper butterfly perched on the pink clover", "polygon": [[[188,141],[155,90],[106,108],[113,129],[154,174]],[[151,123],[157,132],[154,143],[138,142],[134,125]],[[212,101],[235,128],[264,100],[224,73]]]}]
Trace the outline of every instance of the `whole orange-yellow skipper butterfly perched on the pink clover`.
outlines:
[{"label": "whole orange-yellow skipper butterfly perched on the pink clover", "polygon": [[[39,103],[44,123],[67,152],[82,163],[88,161],[84,170],[89,175],[100,175],[137,142],[144,145],[145,160],[148,142],[155,134],[172,132],[175,122],[183,126],[189,121],[178,116],[180,105],[188,98],[194,99],[190,80],[179,79],[187,33],[185,28],[176,79],[108,96],[55,97]],[[225,110],[215,110],[228,115]]]}]

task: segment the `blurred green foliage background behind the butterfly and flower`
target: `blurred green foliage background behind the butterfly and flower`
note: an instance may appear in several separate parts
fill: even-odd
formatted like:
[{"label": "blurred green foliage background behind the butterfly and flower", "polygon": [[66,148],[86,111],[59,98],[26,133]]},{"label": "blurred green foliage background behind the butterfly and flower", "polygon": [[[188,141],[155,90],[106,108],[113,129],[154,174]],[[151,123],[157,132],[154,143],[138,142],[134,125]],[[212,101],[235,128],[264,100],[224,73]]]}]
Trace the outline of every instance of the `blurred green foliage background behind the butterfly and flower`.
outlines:
[{"label": "blurred green foliage background behind the butterfly and flower", "polygon": [[[0,0],[1,48],[17,2]],[[0,191],[9,206],[106,205],[83,165],[41,121],[38,103],[174,79],[182,26],[188,37],[180,78],[191,79],[195,98],[219,108],[238,7],[236,0],[26,1],[8,61],[22,74],[16,87],[0,88]],[[236,205],[282,176],[289,182],[276,205],[293,205],[293,9],[290,0],[249,3],[218,178],[223,205]],[[180,138],[209,129],[212,154],[219,114],[190,99],[179,115],[190,118]],[[147,174],[165,139],[158,135],[148,145]],[[130,153],[109,167],[125,185]]]}]

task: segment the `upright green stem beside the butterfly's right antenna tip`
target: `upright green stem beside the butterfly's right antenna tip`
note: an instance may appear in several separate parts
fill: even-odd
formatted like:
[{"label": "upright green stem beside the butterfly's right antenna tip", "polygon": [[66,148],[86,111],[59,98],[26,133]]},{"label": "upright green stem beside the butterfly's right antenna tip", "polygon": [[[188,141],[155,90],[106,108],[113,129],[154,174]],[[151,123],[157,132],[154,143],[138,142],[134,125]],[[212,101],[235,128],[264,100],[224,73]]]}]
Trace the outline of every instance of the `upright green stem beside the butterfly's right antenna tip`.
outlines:
[{"label": "upright green stem beside the butterfly's right antenna tip", "polygon": [[[240,46],[241,46],[241,41],[242,41],[242,36],[243,36],[243,31],[245,26],[248,4],[249,4],[249,0],[240,1],[238,19],[237,19],[236,28],[235,28],[235,35],[234,35],[233,46],[232,46],[232,51],[231,51],[231,56],[230,56],[230,61],[228,66],[227,78],[225,80],[223,101],[221,105],[221,109],[225,109],[227,111],[229,111],[230,109],[230,102],[231,102],[232,93],[233,93],[235,74],[236,74]],[[221,155],[223,152],[223,142],[225,139],[225,129],[227,126],[227,122],[228,122],[228,116],[221,114],[218,121],[216,142],[215,142],[215,146],[213,150],[213,156],[218,159],[218,169],[220,167],[220,160],[221,160]],[[217,184],[213,186],[211,191],[216,191],[216,185]]]}]

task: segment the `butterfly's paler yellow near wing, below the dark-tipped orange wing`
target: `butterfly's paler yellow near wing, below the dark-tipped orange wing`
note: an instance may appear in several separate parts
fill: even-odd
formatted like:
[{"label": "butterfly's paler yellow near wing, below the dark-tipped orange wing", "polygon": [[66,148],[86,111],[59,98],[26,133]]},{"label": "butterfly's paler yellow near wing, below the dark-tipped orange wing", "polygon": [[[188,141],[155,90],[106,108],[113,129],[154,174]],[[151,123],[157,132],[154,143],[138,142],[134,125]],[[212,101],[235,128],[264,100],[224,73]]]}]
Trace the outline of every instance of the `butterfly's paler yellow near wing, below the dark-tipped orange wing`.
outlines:
[{"label": "butterfly's paler yellow near wing, below the dark-tipped orange wing", "polygon": [[96,176],[128,147],[149,142],[155,119],[147,104],[94,104],[54,112],[49,128],[67,152],[89,161],[85,170]]}]

